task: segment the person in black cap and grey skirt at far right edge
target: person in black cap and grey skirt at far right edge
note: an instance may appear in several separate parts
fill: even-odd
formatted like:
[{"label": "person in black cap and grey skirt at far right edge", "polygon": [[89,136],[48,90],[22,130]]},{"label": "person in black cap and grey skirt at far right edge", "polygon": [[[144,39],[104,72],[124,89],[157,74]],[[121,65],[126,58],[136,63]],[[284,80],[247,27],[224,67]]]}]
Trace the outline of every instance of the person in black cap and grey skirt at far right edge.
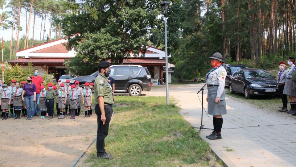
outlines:
[{"label": "person in black cap and grey skirt at far right edge", "polygon": [[288,58],[288,65],[290,65],[290,67],[286,71],[286,83],[283,91],[283,94],[287,94],[290,100],[291,109],[290,111],[287,112],[287,114],[296,113],[296,99],[295,99],[294,92],[292,90],[293,88],[292,73],[295,68],[294,62],[295,62],[294,57]]}]

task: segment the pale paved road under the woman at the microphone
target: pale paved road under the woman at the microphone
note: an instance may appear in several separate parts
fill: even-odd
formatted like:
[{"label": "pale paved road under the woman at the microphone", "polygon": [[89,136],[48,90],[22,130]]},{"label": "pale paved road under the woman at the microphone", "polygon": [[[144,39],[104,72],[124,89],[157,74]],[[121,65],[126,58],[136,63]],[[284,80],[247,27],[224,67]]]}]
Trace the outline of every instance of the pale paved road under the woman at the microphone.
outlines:
[{"label": "pale paved road under the woman at the microphone", "polygon": [[[203,85],[169,86],[170,100],[175,99],[181,115],[193,127],[201,125],[202,93],[197,95],[197,92]],[[165,91],[165,86],[160,86],[142,93],[144,96],[166,96]],[[207,87],[204,90],[205,111],[206,94]],[[296,166],[295,117],[281,117],[231,97],[226,98],[226,104],[228,114],[223,115],[222,140],[206,139],[205,136],[212,132],[208,129],[201,130],[200,136],[227,166]],[[212,116],[208,117],[205,111],[204,128],[212,128]]]}]

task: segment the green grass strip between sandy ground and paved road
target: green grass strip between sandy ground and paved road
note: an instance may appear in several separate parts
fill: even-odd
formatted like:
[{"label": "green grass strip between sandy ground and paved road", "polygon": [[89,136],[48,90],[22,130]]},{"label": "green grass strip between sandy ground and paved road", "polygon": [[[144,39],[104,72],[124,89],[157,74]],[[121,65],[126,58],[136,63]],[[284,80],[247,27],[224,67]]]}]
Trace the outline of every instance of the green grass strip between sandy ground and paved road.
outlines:
[{"label": "green grass strip between sandy ground and paved road", "polygon": [[213,157],[209,144],[182,118],[177,106],[166,105],[166,97],[116,96],[113,111],[105,149],[114,158],[97,159],[93,144],[84,165],[209,166],[217,159],[208,158]]}]

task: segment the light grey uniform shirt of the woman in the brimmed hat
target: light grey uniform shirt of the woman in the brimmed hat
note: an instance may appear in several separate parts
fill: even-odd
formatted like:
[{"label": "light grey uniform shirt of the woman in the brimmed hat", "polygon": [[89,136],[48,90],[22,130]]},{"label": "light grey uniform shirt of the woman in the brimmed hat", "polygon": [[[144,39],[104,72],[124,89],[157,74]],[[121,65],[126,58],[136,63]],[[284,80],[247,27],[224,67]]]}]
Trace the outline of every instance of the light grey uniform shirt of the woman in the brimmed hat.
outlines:
[{"label": "light grey uniform shirt of the woman in the brimmed hat", "polygon": [[226,70],[223,66],[212,71],[207,79],[207,85],[218,85],[217,98],[220,98],[225,86]]}]

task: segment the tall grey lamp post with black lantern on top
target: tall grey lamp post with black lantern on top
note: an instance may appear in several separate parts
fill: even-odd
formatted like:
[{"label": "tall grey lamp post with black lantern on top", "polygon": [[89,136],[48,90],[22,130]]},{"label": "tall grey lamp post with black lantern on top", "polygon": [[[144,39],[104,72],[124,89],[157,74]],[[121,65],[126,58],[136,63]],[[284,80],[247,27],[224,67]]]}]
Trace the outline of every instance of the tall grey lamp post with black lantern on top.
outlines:
[{"label": "tall grey lamp post with black lantern on top", "polygon": [[164,33],[165,33],[165,41],[166,41],[166,92],[167,92],[167,104],[169,104],[169,77],[168,77],[168,63],[167,63],[167,13],[169,9],[169,3],[163,0],[160,3],[161,13],[164,15]]}]

